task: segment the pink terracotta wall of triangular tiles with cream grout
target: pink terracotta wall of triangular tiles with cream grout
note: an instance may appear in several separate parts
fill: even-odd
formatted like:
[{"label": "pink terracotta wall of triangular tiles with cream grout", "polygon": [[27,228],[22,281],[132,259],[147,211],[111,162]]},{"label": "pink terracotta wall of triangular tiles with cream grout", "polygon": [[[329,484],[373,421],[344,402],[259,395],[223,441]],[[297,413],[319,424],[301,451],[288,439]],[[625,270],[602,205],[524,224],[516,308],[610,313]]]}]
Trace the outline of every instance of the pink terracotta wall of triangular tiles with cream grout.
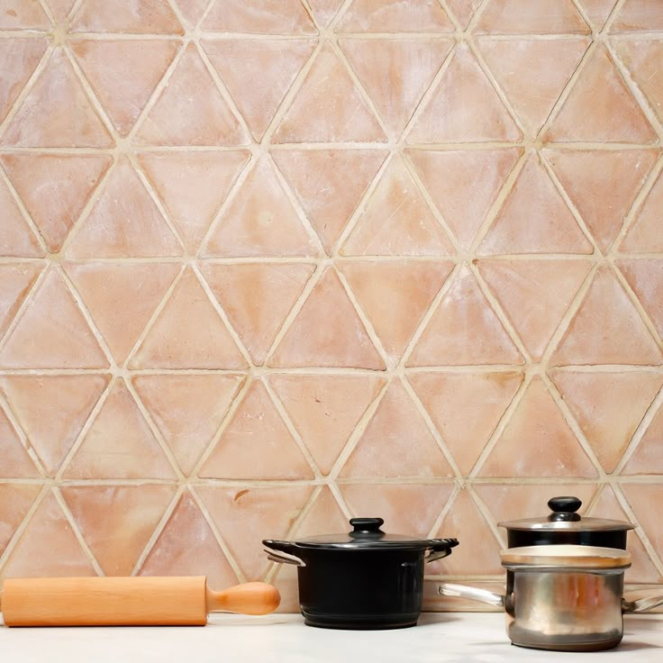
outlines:
[{"label": "pink terracotta wall of triangular tiles with cream grout", "polygon": [[[0,0],[0,575],[292,568],[578,495],[663,582],[660,0]],[[429,607],[441,604],[427,588]]]}]

